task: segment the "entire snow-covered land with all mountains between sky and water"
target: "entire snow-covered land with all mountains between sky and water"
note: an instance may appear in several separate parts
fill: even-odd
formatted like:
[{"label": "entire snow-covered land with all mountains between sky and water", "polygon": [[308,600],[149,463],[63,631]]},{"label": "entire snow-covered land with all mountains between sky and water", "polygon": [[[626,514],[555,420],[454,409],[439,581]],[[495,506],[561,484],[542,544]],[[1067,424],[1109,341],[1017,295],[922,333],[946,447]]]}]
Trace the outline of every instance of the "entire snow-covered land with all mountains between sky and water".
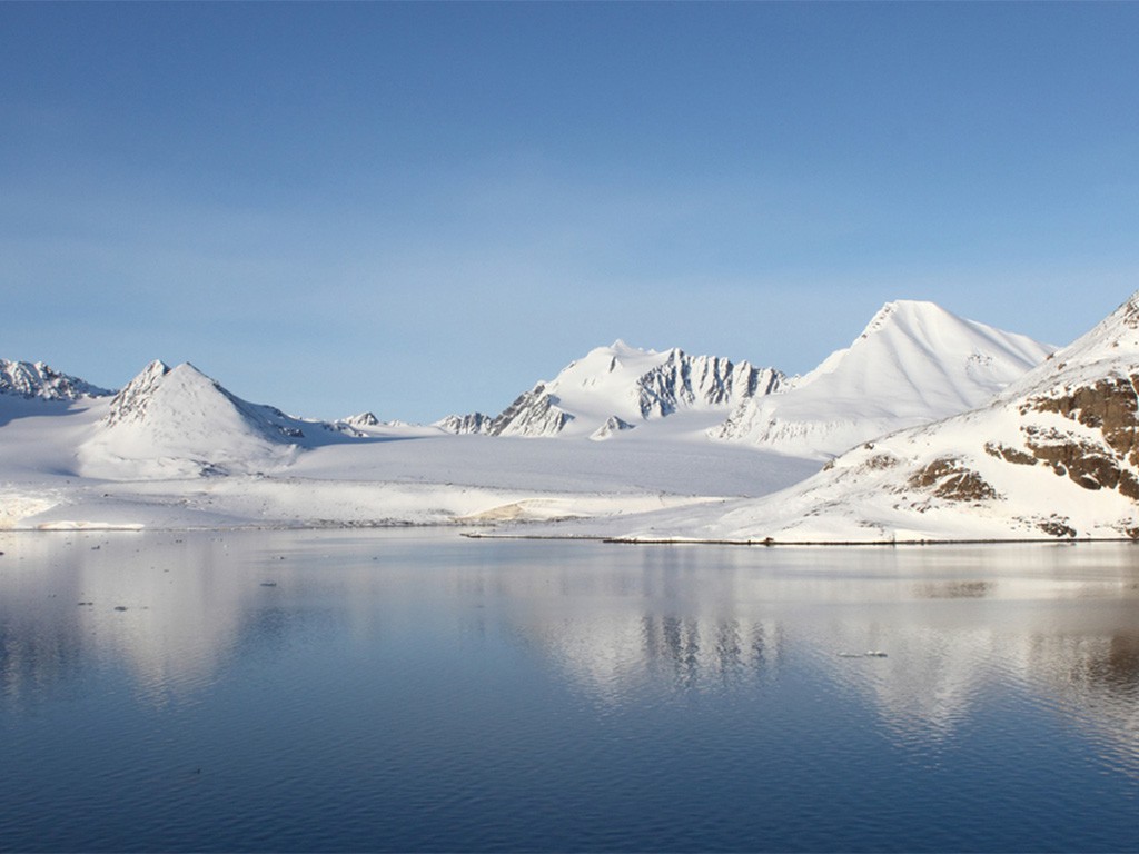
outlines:
[{"label": "entire snow-covered land with all mountains between sky and water", "polygon": [[[894,302],[802,377],[615,342],[498,416],[434,426],[296,418],[191,364],[153,362],[113,394],[0,362],[0,526],[73,504],[133,518],[159,494],[131,487],[110,508],[95,485],[109,482],[185,483],[162,487],[164,506],[190,507],[212,477],[229,485],[203,507],[228,509],[210,518],[241,520],[396,524],[474,508],[489,524],[581,516],[591,522],[565,523],[567,535],[637,541],[1139,539],[1139,294],[1059,351]],[[726,481],[735,492],[716,491]],[[321,486],[309,508],[310,484],[349,482],[352,498]],[[497,494],[502,506],[481,504]]]}]

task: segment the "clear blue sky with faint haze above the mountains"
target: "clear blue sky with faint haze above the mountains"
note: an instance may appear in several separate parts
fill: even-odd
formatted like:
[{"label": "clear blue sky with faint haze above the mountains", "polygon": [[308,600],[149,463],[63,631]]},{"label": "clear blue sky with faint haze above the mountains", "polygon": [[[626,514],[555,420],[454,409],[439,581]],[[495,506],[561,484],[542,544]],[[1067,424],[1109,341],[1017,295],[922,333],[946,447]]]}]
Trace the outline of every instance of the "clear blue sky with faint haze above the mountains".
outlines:
[{"label": "clear blue sky with faint haze above the mountains", "polygon": [[498,412],[1139,289],[1139,3],[0,3],[0,356]]}]

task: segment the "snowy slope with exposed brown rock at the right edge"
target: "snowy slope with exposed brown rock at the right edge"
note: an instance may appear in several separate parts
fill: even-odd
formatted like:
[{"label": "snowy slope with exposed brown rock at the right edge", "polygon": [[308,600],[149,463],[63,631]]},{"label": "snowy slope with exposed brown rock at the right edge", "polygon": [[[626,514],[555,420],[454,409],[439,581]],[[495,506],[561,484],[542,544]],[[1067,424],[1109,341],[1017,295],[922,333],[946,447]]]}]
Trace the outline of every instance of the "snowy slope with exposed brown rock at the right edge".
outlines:
[{"label": "snowy slope with exposed brown rock at the right edge", "polygon": [[790,542],[1139,539],[1139,294],[981,409],[867,442],[760,501],[654,527]]}]

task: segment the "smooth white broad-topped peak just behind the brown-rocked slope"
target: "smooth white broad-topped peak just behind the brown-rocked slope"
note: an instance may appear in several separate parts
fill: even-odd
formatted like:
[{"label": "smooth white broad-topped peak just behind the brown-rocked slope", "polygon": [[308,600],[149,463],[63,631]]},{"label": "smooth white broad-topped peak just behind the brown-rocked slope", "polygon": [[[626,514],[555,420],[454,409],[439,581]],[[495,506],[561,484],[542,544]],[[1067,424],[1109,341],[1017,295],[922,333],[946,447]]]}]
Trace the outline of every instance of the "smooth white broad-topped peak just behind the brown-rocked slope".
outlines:
[{"label": "smooth white broad-topped peak just behind the brown-rocked slope", "polygon": [[1054,348],[927,302],[887,303],[847,348],[743,401],[714,438],[825,459],[977,407]]}]

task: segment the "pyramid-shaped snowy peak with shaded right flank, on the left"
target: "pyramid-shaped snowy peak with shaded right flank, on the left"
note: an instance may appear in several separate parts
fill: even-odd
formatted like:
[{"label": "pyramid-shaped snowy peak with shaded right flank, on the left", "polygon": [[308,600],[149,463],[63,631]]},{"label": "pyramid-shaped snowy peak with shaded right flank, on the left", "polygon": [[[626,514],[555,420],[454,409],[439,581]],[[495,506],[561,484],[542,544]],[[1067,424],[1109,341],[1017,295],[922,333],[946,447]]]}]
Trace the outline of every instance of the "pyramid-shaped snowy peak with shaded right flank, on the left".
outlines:
[{"label": "pyramid-shaped snowy peak with shaded right flank, on the left", "polygon": [[333,433],[244,401],[188,362],[154,361],[110,401],[79,458],[84,475],[115,479],[252,473],[288,462],[312,444],[306,432]]}]

